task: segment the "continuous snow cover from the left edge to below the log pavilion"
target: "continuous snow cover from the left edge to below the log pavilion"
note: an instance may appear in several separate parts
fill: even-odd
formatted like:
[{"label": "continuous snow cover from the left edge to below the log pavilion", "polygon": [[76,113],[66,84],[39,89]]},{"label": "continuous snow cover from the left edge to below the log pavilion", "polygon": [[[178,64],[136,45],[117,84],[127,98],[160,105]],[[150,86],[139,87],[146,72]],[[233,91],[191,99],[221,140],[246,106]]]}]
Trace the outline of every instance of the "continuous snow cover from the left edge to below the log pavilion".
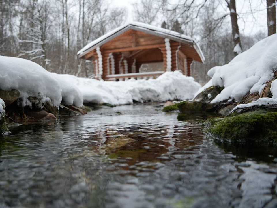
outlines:
[{"label": "continuous snow cover from the left edge to below the log pavilion", "polygon": [[41,103],[51,100],[54,106],[81,106],[84,102],[131,104],[133,100],[167,101],[192,99],[200,84],[181,72],[166,72],[157,79],[98,81],[73,75],[50,73],[29,60],[0,56],[0,89],[16,89],[22,105],[31,105],[29,96]]}]

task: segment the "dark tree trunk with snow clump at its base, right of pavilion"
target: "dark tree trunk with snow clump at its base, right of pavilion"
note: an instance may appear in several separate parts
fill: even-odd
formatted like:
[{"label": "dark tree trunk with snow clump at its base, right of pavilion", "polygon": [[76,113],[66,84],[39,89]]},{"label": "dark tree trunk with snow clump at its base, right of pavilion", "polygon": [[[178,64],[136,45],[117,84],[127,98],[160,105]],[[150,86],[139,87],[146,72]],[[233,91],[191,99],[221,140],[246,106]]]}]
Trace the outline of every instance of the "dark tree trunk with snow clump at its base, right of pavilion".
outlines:
[{"label": "dark tree trunk with snow clump at its base, right of pavilion", "polygon": [[242,45],[239,37],[239,26],[237,24],[237,10],[236,10],[236,1],[235,0],[225,0],[227,6],[230,10],[231,24],[232,24],[232,34],[234,41],[234,53],[235,56],[242,52]]}]

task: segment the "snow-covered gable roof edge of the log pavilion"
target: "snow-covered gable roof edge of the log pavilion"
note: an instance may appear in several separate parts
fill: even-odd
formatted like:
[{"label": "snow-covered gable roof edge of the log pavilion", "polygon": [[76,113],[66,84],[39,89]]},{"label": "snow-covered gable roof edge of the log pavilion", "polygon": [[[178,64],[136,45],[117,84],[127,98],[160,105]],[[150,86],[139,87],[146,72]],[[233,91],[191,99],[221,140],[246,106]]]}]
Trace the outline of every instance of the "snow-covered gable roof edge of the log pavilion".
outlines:
[{"label": "snow-covered gable roof edge of the log pavilion", "polygon": [[169,30],[169,29],[156,27],[156,26],[148,25],[148,24],[141,23],[141,22],[130,22],[130,23],[127,23],[120,27],[117,27],[116,29],[104,34],[103,36],[101,36],[101,37],[97,38],[96,40],[93,40],[92,42],[87,44],[80,51],[78,51],[77,55],[79,55],[79,57],[82,57],[89,51],[96,49],[97,47],[105,44],[106,42],[119,36],[120,34],[126,32],[129,29],[146,32],[146,33],[160,36],[163,38],[169,38],[171,40],[175,40],[175,41],[182,42],[185,44],[190,44],[194,47],[194,49],[198,53],[199,57],[201,58],[202,62],[205,61],[203,52],[201,51],[199,45],[195,42],[195,40],[193,38],[183,35],[181,33]]}]

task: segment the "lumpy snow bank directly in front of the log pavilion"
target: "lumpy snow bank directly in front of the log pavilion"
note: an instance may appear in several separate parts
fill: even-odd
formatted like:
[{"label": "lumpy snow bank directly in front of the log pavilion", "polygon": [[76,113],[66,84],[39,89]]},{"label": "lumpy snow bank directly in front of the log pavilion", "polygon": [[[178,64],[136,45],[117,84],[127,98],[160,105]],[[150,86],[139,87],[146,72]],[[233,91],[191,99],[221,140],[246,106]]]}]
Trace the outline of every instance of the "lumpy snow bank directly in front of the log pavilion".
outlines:
[{"label": "lumpy snow bank directly in front of the log pavilion", "polygon": [[192,99],[201,85],[192,77],[179,71],[165,72],[157,79],[127,81],[98,81],[61,75],[66,81],[76,85],[83,95],[84,102],[110,103],[112,105],[132,104],[133,100],[167,101]]}]

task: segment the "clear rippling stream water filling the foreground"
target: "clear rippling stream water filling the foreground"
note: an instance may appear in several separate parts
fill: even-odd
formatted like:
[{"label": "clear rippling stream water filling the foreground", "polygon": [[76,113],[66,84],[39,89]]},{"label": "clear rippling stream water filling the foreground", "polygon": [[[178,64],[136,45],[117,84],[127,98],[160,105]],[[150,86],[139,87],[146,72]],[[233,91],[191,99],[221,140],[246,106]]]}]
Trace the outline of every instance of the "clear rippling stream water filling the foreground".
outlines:
[{"label": "clear rippling stream water filling the foreground", "polygon": [[[233,155],[157,104],[21,125],[0,138],[0,207],[277,207],[277,159]],[[257,159],[259,158],[259,159]]]}]

